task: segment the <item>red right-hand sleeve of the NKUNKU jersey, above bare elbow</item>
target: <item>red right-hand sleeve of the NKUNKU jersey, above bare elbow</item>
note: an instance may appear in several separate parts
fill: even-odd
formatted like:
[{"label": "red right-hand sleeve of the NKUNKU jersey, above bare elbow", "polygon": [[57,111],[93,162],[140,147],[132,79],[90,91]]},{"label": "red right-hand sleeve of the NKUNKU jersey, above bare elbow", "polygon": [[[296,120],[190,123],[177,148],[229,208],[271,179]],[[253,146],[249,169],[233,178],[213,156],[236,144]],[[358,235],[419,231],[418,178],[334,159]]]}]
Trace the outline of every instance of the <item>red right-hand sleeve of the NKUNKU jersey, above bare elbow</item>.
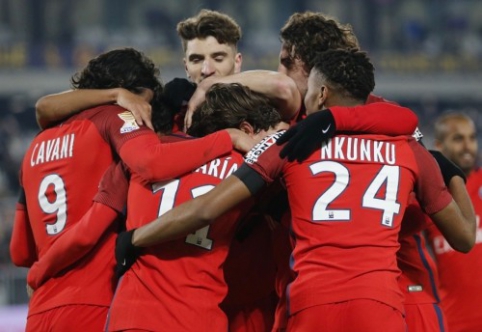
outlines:
[{"label": "red right-hand sleeve of the NKUNKU jersey, above bare elbow", "polygon": [[432,155],[415,140],[410,144],[419,170],[415,184],[417,200],[425,213],[437,213],[450,204],[452,195],[445,186],[440,168]]}]

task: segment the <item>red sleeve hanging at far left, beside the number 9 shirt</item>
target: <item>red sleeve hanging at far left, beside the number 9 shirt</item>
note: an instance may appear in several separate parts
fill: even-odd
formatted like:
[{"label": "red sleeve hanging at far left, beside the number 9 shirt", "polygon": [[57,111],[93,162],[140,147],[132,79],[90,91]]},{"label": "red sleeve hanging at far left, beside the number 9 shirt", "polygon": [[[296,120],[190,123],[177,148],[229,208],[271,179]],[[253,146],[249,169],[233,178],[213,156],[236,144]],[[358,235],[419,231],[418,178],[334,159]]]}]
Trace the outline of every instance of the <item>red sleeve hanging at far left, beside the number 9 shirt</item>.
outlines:
[{"label": "red sleeve hanging at far left, beside the number 9 shirt", "polygon": [[37,260],[35,239],[30,226],[23,188],[15,209],[10,258],[13,264],[22,267],[30,267]]}]

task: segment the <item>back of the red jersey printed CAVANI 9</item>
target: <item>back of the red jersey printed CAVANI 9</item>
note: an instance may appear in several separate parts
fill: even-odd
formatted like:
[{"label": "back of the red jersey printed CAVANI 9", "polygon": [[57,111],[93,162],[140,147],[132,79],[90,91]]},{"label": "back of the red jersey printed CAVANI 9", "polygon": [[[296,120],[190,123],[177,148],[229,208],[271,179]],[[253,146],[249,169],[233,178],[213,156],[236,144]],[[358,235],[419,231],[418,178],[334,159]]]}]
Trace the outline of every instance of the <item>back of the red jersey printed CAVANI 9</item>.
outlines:
[{"label": "back of the red jersey printed CAVANI 9", "polygon": [[[96,126],[102,108],[84,111],[37,135],[27,150],[21,182],[38,255],[89,209],[99,181],[112,163],[109,144]],[[82,303],[108,305],[112,296],[113,234],[87,257],[48,280],[30,302],[29,314],[55,306]],[[102,269],[98,267],[101,266]]]}]

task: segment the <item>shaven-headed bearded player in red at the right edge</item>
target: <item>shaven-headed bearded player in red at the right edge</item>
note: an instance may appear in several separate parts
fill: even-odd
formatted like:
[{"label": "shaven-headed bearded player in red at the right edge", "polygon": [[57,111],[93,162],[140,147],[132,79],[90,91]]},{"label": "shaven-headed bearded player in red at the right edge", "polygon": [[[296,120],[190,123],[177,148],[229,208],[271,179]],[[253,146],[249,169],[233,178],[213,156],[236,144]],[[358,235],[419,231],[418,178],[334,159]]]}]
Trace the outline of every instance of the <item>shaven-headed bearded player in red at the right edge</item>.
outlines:
[{"label": "shaven-headed bearded player in red at the right edge", "polygon": [[475,209],[477,236],[467,255],[453,251],[439,232],[430,232],[440,278],[441,305],[450,331],[482,329],[482,170],[476,165],[474,122],[463,113],[448,113],[435,122],[435,148],[458,165],[467,176],[466,188]]}]

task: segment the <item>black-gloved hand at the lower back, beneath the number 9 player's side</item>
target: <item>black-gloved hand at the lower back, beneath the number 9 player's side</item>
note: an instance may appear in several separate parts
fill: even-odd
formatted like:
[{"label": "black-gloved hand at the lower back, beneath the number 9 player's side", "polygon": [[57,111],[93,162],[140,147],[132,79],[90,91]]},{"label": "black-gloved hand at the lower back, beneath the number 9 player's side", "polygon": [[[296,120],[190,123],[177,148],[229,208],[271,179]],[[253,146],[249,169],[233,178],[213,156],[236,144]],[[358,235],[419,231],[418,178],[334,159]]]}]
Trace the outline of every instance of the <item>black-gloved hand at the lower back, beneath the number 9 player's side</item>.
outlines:
[{"label": "black-gloved hand at the lower back, beneath the number 9 player's side", "polygon": [[130,269],[140,255],[141,248],[132,244],[132,235],[135,229],[120,232],[115,241],[115,276],[120,278]]}]

